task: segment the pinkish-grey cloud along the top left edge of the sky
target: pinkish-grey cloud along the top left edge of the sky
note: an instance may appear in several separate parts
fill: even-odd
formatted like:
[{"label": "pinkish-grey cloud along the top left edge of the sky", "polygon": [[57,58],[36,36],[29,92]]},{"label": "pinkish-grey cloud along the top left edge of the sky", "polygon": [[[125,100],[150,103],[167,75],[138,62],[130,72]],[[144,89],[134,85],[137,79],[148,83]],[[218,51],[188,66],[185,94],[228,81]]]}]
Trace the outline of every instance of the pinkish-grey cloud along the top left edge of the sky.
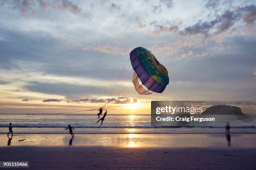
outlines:
[{"label": "pinkish-grey cloud along the top left edge of the sky", "polygon": [[58,8],[60,10],[67,10],[74,14],[80,14],[82,11],[78,5],[70,2],[69,0],[8,0],[3,1],[2,4],[3,3],[10,5],[12,9],[19,10],[22,14],[36,13],[38,6],[43,12],[50,7],[51,9]]}]

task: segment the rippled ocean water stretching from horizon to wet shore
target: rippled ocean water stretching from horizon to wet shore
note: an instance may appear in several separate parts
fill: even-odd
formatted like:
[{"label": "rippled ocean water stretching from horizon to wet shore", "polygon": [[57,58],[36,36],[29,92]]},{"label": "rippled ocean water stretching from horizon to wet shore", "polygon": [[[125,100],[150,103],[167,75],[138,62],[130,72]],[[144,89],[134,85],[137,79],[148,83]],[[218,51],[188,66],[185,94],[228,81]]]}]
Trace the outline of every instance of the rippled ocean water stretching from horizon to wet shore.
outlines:
[{"label": "rippled ocean water stretching from horizon to wet shore", "polygon": [[[102,117],[102,116],[101,116]],[[151,126],[151,115],[121,115],[108,114],[103,125],[97,122],[96,114],[0,114],[0,134],[8,133],[9,123],[12,122],[14,134],[65,134],[69,133],[70,124],[73,132],[79,134],[215,134],[225,133],[225,125],[211,126]],[[230,133],[256,133],[256,120],[251,122],[230,122]]]}]

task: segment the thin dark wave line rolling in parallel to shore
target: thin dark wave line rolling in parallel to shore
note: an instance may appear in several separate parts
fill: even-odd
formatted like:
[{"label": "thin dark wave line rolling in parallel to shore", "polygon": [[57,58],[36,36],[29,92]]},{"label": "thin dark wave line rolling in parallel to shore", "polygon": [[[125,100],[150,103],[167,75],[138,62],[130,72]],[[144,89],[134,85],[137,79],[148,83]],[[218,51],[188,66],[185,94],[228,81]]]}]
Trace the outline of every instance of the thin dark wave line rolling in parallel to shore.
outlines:
[{"label": "thin dark wave line rolling in parallel to shore", "polygon": [[[84,126],[73,125],[75,128],[225,128],[223,126]],[[0,128],[8,128],[8,125],[0,125]],[[67,128],[63,125],[15,125],[14,128]],[[255,128],[253,126],[232,126],[231,128]]]}]

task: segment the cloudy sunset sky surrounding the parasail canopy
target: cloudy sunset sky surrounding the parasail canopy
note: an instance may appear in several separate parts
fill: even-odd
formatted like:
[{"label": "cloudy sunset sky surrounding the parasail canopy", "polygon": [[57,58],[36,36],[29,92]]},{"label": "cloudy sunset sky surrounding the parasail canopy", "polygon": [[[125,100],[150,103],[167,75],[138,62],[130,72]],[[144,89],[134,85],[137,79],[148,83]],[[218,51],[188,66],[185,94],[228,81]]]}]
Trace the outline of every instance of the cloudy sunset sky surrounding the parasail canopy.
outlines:
[{"label": "cloudy sunset sky surrounding the parasail canopy", "polygon": [[[0,0],[0,113],[256,100],[255,44],[255,0]],[[140,46],[169,72],[162,93],[133,87]]]}]

